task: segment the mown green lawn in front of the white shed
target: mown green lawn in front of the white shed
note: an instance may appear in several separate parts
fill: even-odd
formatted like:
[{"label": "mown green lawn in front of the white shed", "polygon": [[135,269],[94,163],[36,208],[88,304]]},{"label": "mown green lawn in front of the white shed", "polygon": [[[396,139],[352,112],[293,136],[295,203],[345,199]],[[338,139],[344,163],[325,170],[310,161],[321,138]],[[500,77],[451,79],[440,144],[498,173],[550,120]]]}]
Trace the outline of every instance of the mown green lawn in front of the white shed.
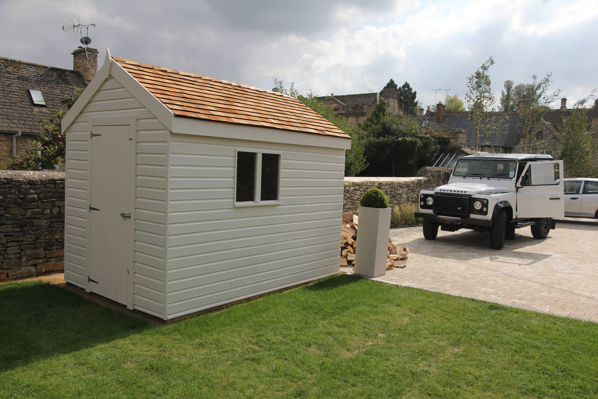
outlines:
[{"label": "mown green lawn in front of the white shed", "polygon": [[0,285],[0,397],[584,398],[598,325],[358,276],[170,325]]}]

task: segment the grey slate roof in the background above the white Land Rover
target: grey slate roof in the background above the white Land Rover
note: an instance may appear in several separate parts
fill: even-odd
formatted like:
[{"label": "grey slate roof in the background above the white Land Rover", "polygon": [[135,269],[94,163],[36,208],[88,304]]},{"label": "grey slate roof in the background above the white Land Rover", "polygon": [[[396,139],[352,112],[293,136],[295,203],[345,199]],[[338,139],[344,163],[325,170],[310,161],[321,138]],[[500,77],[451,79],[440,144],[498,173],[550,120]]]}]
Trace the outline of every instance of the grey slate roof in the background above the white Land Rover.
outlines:
[{"label": "grey slate roof in the background above the white Land Rover", "polygon": [[[483,133],[484,129],[481,128],[480,134],[480,145],[492,145],[499,147],[515,147],[520,140],[520,131],[523,120],[517,113],[501,113],[499,117],[502,118],[502,122],[499,124],[498,132],[491,132],[489,137],[485,137]],[[436,123],[436,116],[417,116],[416,119],[419,125],[422,126],[422,122],[428,121],[429,126],[432,128],[444,127],[447,130],[450,129],[465,129],[467,132],[466,143],[468,145],[475,145],[477,143],[475,128],[469,122],[469,116],[466,113],[462,114],[445,114],[441,126]]]}]

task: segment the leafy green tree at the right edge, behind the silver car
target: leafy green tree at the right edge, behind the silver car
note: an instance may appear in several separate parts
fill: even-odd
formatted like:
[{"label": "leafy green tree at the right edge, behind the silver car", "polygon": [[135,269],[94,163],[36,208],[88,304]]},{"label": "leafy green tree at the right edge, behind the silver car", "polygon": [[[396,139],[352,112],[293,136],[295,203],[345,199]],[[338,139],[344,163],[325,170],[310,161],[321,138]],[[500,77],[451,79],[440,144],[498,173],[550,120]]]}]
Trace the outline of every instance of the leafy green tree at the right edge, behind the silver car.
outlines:
[{"label": "leafy green tree at the right edge, behind the silver car", "polygon": [[[595,93],[596,90],[590,95]],[[565,177],[598,177],[598,168],[593,164],[598,157],[598,143],[592,140],[591,132],[587,129],[587,101],[587,98],[577,101],[572,113],[563,118],[558,158],[565,164]]]}]

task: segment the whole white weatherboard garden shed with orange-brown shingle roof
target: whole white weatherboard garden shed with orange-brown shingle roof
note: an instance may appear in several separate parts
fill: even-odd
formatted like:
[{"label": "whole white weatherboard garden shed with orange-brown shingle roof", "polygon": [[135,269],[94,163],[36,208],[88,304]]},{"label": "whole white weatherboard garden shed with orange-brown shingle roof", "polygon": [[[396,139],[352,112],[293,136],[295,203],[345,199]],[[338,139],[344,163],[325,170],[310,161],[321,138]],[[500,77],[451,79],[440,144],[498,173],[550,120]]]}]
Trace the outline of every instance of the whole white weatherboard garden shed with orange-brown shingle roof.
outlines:
[{"label": "whole white weatherboard garden shed with orange-brown shingle roof", "polygon": [[297,99],[108,50],[62,132],[67,282],[171,320],[338,272],[350,137]]}]

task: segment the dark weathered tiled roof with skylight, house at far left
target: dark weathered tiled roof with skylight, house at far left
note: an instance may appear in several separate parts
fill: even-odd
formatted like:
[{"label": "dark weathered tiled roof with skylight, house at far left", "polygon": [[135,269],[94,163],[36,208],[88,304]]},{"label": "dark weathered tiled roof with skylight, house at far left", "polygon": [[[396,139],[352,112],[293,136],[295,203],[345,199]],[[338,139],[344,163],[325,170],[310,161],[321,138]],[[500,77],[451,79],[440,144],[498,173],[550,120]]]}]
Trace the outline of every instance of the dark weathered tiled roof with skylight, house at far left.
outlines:
[{"label": "dark weathered tiled roof with skylight, house at far left", "polygon": [[[84,87],[79,72],[0,57],[0,131],[41,133],[39,118],[53,116],[62,98]],[[41,90],[47,107],[33,105],[29,89]]]}]

